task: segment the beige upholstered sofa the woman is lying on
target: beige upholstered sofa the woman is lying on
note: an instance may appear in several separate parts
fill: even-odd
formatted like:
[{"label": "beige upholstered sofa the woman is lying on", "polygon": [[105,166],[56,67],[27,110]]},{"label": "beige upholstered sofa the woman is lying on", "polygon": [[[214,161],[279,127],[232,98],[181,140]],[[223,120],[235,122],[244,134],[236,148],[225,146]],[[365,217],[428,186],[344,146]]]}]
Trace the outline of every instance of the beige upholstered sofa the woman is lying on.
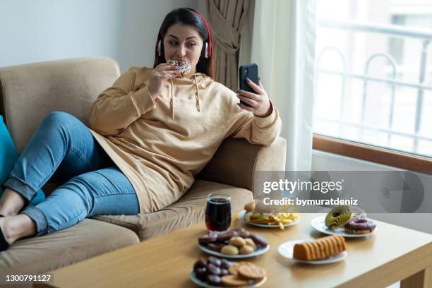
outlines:
[{"label": "beige upholstered sofa the woman is lying on", "polygon": [[[18,151],[49,112],[68,112],[87,124],[90,105],[119,75],[118,64],[104,57],[0,68],[0,113]],[[285,146],[282,138],[270,147],[229,138],[173,205],[149,214],[101,215],[63,231],[17,241],[0,253],[0,271],[46,272],[203,222],[210,192],[228,193],[232,210],[239,210],[253,198],[254,172],[284,170]],[[44,187],[44,192],[49,190]]]}]

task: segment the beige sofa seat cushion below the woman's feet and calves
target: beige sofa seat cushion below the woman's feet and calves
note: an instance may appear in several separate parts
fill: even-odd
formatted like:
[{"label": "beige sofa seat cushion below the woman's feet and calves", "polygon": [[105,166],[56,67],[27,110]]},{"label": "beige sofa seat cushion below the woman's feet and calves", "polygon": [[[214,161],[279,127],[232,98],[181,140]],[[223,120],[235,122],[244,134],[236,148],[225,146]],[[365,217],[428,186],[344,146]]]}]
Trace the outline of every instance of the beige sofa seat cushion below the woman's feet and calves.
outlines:
[{"label": "beige sofa seat cushion below the woman's feet and calves", "polygon": [[137,243],[129,229],[85,219],[68,229],[16,241],[0,253],[0,271],[48,272]]}]

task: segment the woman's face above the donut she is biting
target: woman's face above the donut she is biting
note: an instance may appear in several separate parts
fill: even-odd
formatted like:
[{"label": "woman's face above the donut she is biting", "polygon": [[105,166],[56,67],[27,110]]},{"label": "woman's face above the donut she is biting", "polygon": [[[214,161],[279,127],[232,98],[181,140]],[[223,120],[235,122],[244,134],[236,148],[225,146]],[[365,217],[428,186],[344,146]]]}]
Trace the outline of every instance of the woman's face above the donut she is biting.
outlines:
[{"label": "woman's face above the donut she is biting", "polygon": [[196,64],[200,60],[203,39],[191,25],[174,24],[169,26],[164,37],[165,61],[176,58],[188,61],[192,73],[196,72]]}]

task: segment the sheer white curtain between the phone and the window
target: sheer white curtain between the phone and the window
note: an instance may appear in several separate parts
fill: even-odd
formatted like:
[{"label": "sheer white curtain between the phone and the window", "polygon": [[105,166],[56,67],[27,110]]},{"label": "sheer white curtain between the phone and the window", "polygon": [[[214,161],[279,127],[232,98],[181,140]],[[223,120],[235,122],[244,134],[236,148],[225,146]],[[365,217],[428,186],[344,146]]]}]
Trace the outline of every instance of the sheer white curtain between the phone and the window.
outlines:
[{"label": "sheer white curtain between the phone and the window", "polygon": [[315,0],[255,2],[251,61],[280,110],[290,171],[311,170],[315,6]]}]

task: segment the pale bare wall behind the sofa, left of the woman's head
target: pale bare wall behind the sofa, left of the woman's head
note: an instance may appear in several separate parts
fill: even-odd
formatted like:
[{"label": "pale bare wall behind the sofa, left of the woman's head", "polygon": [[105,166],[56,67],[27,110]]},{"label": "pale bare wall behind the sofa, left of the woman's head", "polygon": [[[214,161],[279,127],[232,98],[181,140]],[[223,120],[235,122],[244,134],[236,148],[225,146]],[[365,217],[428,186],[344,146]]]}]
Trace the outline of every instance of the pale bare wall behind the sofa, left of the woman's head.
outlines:
[{"label": "pale bare wall behind the sofa, left of the woman's head", "polygon": [[152,66],[157,31],[198,0],[0,0],[0,67],[109,56],[121,71]]}]

